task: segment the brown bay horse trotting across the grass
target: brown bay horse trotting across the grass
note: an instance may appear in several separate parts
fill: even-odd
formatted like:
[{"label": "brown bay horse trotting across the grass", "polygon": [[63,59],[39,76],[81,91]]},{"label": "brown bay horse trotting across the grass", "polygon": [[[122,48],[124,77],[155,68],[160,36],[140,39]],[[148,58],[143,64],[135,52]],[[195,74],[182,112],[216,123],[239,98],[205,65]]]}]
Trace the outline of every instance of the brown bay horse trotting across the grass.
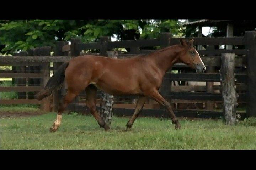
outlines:
[{"label": "brown bay horse trotting across the grass", "polygon": [[193,40],[180,39],[180,45],[169,46],[148,55],[128,59],[113,59],[99,56],[78,56],[60,66],[50,78],[44,90],[37,94],[41,100],[60,88],[66,80],[68,91],[59,103],[57,119],[50,131],[55,132],[61,123],[62,113],[68,104],[82,91],[86,91],[86,105],[97,120],[100,127],[109,127],[96,111],[97,89],[112,95],[138,95],[138,101],[133,116],[126,124],[131,128],[138,117],[146,97],[166,107],[175,128],[180,123],[171,109],[171,105],[159,94],[165,72],[175,63],[187,64],[198,73],[206,70],[198,52],[193,47]]}]

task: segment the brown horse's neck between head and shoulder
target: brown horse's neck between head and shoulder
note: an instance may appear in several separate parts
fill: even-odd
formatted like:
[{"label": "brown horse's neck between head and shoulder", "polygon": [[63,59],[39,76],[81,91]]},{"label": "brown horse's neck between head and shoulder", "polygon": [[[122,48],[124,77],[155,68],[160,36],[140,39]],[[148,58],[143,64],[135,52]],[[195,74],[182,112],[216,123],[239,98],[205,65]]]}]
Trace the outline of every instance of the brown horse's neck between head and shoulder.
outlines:
[{"label": "brown horse's neck between head and shoulder", "polygon": [[182,51],[180,45],[174,45],[160,49],[147,56],[149,60],[153,60],[156,67],[161,69],[165,74],[178,60],[178,55]]}]

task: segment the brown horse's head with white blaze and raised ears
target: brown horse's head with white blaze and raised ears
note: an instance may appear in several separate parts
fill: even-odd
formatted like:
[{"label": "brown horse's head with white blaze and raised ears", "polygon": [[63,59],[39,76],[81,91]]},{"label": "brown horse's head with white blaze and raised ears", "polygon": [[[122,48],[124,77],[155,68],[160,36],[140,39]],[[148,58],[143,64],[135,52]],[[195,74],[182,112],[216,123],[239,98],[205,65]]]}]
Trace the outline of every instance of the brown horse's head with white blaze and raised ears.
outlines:
[{"label": "brown horse's head with white blaze and raised ears", "polygon": [[193,41],[194,39],[190,41],[180,39],[180,44],[184,47],[184,50],[180,53],[180,61],[191,68],[196,69],[197,73],[203,73],[206,70],[206,67],[204,66],[197,50],[194,49]]}]

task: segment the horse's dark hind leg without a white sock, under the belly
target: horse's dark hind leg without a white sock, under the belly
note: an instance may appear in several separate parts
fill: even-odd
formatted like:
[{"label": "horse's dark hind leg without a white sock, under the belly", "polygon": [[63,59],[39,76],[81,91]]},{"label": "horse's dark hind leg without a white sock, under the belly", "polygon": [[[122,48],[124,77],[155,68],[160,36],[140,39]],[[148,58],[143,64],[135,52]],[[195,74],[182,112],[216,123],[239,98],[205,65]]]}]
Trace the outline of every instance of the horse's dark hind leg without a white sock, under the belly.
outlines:
[{"label": "horse's dark hind leg without a white sock, under the belly", "polygon": [[104,128],[105,130],[110,129],[109,126],[100,117],[100,114],[98,114],[96,110],[97,87],[95,87],[94,85],[89,85],[86,87],[85,91],[86,91],[86,106],[90,109],[91,114],[97,120],[101,128]]}]

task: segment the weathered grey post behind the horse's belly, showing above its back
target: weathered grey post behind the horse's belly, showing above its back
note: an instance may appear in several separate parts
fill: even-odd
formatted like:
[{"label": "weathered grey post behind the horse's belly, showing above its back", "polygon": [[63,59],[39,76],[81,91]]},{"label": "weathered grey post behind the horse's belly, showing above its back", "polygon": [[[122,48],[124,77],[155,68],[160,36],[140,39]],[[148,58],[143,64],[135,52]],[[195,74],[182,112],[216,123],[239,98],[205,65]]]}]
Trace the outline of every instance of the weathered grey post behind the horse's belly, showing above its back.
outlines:
[{"label": "weathered grey post behind the horse's belly, showing above its back", "polygon": [[[107,56],[110,58],[117,58],[117,51],[107,51]],[[102,100],[100,103],[100,110],[98,111],[101,118],[108,124],[111,124],[113,116],[113,107],[114,96],[103,92]]]}]

